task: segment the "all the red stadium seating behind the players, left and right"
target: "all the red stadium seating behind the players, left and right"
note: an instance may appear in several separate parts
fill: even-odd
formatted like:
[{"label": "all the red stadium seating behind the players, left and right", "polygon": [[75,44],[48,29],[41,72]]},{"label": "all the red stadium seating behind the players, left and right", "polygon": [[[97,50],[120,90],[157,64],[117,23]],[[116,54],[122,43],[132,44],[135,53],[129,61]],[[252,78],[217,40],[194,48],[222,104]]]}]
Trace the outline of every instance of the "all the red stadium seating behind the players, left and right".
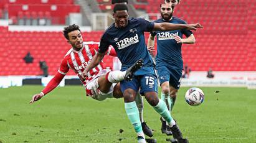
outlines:
[{"label": "all the red stadium seating behind the players, left and right", "polygon": [[[26,16],[26,11],[22,11],[24,1],[17,0],[17,3],[9,6],[11,18]],[[52,1],[48,1],[47,4],[38,7],[38,2],[40,1],[35,2],[34,6],[29,6],[29,10],[27,10],[32,17],[44,15],[44,12],[50,11],[50,6],[53,4]],[[50,17],[62,19],[57,22],[52,21],[52,23],[64,24],[65,16],[71,10],[79,12],[79,6],[72,1],[67,2],[69,5],[66,6],[66,9],[60,8],[63,9],[61,14],[50,11]],[[98,2],[106,1],[98,0]],[[140,2],[144,2],[144,4],[136,4],[135,8],[145,9],[148,13],[159,13],[159,4],[162,1],[143,0]],[[154,7],[147,7],[150,4],[153,4]],[[56,6],[59,9],[59,6],[62,5],[57,4]],[[70,9],[71,6],[72,9]],[[1,2],[0,9],[4,9]],[[40,14],[36,9],[40,9]],[[35,14],[35,12],[38,13]],[[247,4],[232,0],[183,0],[176,7],[174,16],[181,17],[189,23],[200,22],[204,25],[203,30],[195,32],[196,44],[184,45],[184,63],[187,63],[192,71],[207,71],[209,67],[214,71],[256,71],[255,13],[256,2],[252,1]],[[0,36],[4,37],[7,34],[7,27],[0,27],[0,31]],[[98,42],[102,33],[103,31],[83,32],[83,38],[86,41]],[[148,33],[145,34],[146,40],[148,40],[148,35]],[[5,40],[1,40],[4,43]],[[60,61],[70,48],[70,45],[65,42],[62,32],[11,31],[9,32],[9,42],[10,44],[6,45],[6,48],[9,49],[8,52],[3,52],[4,50],[1,48],[0,62],[3,62],[4,69],[0,75],[42,75],[39,68],[40,60],[45,60],[49,65],[49,75],[54,75],[59,68]],[[27,65],[22,60],[27,52],[31,52],[34,63]],[[8,62],[5,59],[8,59]],[[105,58],[104,61],[107,67],[112,67],[111,57]],[[73,72],[70,74],[73,75]]]}]

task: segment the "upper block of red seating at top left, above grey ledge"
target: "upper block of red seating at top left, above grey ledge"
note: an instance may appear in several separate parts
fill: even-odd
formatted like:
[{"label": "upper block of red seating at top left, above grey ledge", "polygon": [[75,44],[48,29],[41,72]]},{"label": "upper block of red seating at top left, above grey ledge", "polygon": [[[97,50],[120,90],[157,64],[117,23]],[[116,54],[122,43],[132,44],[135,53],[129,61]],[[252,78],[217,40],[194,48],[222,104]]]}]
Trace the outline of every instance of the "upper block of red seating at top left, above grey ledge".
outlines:
[{"label": "upper block of red seating at top left, above grey ledge", "polygon": [[32,25],[33,19],[49,19],[51,22],[47,25],[65,25],[70,13],[80,12],[80,6],[73,4],[73,1],[62,4],[61,1],[53,0],[47,3],[19,0],[9,4],[8,9],[9,17],[15,21],[12,24],[18,24],[19,20],[24,21],[19,25]]}]

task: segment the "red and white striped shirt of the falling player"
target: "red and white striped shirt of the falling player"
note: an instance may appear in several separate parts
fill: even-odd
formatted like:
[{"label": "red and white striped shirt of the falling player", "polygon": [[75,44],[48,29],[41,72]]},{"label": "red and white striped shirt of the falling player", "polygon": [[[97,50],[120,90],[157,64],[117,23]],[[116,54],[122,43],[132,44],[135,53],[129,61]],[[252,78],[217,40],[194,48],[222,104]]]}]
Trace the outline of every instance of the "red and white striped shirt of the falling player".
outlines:
[{"label": "red and white striped shirt of the falling player", "polygon": [[[58,70],[59,73],[65,75],[69,69],[72,69],[78,76],[81,75],[83,70],[85,70],[85,67],[87,67],[92,60],[93,55],[97,53],[98,44],[99,43],[97,42],[83,42],[83,47],[79,51],[71,48],[60,64],[60,68]],[[113,50],[113,47],[109,47],[106,54],[109,55]],[[85,81],[81,80],[83,85],[87,85],[88,81],[92,80],[92,78],[98,74],[98,71],[103,70],[104,68],[103,62],[100,62],[97,67],[90,70]]]}]

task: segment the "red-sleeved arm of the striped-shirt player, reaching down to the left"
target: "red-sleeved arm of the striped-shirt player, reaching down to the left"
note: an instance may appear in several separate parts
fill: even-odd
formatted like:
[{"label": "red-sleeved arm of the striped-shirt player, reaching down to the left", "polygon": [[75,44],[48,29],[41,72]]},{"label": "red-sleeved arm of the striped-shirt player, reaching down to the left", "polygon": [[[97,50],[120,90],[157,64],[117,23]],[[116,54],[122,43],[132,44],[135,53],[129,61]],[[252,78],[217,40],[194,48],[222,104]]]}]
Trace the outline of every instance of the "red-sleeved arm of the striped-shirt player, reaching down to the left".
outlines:
[{"label": "red-sleeved arm of the striped-shirt player, reaching down to the left", "polygon": [[52,78],[52,80],[50,80],[50,82],[47,84],[47,86],[44,88],[44,90],[42,90],[42,92],[40,92],[39,94],[36,94],[32,97],[31,101],[29,103],[34,103],[35,101],[38,101],[39,99],[41,99],[43,96],[45,96],[47,93],[49,93],[50,91],[54,90],[54,88],[56,88],[59,84],[60,81],[62,81],[62,79],[64,78],[65,75],[59,73],[59,71],[54,75],[54,78]]}]

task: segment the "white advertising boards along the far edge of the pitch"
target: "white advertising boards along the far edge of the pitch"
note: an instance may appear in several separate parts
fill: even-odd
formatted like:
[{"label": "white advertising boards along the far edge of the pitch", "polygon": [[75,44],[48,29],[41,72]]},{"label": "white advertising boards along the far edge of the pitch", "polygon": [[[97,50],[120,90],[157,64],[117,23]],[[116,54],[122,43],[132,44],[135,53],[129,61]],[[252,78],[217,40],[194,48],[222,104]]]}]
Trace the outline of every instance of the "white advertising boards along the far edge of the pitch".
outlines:
[{"label": "white advertising boards along the far edge of the pitch", "polygon": [[[205,71],[192,71],[189,78],[181,80],[183,86],[226,86],[256,88],[256,73],[254,71],[215,71],[214,78],[207,78]],[[0,76],[0,88],[22,85],[45,86],[53,76]],[[81,85],[77,76],[65,76],[59,86]]]}]

